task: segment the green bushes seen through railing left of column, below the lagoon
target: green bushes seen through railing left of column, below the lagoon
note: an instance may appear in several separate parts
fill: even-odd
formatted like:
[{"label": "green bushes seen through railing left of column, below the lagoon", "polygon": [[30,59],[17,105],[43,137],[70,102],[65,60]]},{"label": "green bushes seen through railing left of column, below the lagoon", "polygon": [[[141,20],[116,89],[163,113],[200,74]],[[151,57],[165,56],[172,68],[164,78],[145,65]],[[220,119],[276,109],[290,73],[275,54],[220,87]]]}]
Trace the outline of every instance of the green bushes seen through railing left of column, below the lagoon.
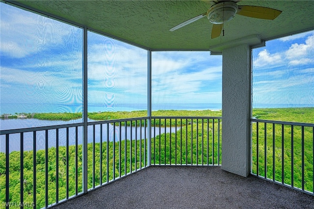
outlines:
[{"label": "green bushes seen through railing left of column, below the lagoon", "polygon": [[[217,121],[215,121],[217,123]],[[217,124],[216,124],[217,125]],[[152,164],[217,164],[217,126],[215,129],[214,142],[212,142],[212,124],[209,124],[209,132],[203,131],[201,125],[187,126],[183,131],[177,133],[167,133],[157,135],[152,138]],[[207,128],[204,125],[203,130]],[[193,129],[193,131],[191,131]],[[220,128],[221,129],[221,128]],[[198,131],[197,131],[198,130]],[[192,134],[193,132],[193,134]],[[207,145],[207,135],[209,134],[209,146]],[[221,132],[220,132],[221,134]],[[182,136],[182,141],[179,138]],[[191,137],[193,140],[191,140]],[[220,135],[221,138],[221,135]],[[203,140],[203,143],[202,143]],[[170,143],[171,142],[171,143]],[[120,142],[102,143],[102,152],[100,152],[100,143],[88,144],[88,188],[100,184],[100,153],[102,153],[102,183],[113,180],[125,174],[144,167],[147,160],[147,149],[145,145],[147,140],[122,140]],[[214,147],[212,147],[212,144]],[[119,146],[121,146],[121,158],[119,157]],[[159,152],[160,146],[160,152]],[[208,146],[208,147],[207,147]],[[93,173],[93,149],[95,149],[95,171]],[[135,152],[136,149],[136,152]],[[107,153],[108,150],[108,153]],[[214,150],[212,157],[211,151]],[[208,151],[208,152],[207,152]],[[66,198],[66,166],[67,156],[66,148],[59,147],[58,152],[58,200]],[[113,157],[113,153],[114,156]],[[203,155],[204,154],[204,155]],[[56,148],[52,147],[48,150],[48,195],[49,204],[56,201]],[[221,144],[220,154],[221,156]],[[78,145],[78,154],[76,154],[75,146],[69,146],[69,196],[75,195],[76,191],[76,156],[78,156],[78,193],[82,191],[82,146]],[[107,158],[108,157],[108,158]],[[10,163],[10,201],[20,201],[20,152],[12,152],[9,155]],[[108,159],[108,160],[107,160]],[[159,161],[160,159],[160,161]],[[24,152],[24,202],[31,203],[33,201],[33,152]],[[126,164],[125,164],[126,160]],[[214,161],[213,161],[214,160]],[[221,158],[219,159],[221,163]],[[5,202],[5,155],[0,153],[0,201]],[[45,151],[36,152],[36,205],[37,208],[45,206]],[[114,164],[113,164],[114,162]],[[136,162],[136,163],[135,163]],[[108,163],[108,164],[107,164]],[[113,171],[114,168],[114,171]],[[113,177],[114,175],[114,177]]]}]

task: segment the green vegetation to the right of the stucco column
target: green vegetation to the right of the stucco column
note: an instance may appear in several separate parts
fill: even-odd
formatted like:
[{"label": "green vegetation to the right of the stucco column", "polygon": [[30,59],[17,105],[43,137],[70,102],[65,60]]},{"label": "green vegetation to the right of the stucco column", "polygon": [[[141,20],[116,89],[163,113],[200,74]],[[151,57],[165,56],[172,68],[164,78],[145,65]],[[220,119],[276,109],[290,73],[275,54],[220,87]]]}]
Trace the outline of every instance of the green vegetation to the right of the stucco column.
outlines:
[{"label": "green vegetation to the right of the stucco column", "polygon": [[[253,116],[262,120],[313,124],[314,108],[254,109]],[[253,123],[252,131],[252,172],[262,177],[265,177],[266,174],[268,179],[302,188],[302,128],[293,126],[292,130],[290,125],[276,124],[273,127],[268,123],[265,127],[265,123],[259,123],[259,132],[257,133],[257,123]],[[313,127],[304,127],[304,189],[312,192],[314,182],[313,132]],[[291,141],[292,137],[293,141]],[[265,147],[266,149],[264,149]]]}]

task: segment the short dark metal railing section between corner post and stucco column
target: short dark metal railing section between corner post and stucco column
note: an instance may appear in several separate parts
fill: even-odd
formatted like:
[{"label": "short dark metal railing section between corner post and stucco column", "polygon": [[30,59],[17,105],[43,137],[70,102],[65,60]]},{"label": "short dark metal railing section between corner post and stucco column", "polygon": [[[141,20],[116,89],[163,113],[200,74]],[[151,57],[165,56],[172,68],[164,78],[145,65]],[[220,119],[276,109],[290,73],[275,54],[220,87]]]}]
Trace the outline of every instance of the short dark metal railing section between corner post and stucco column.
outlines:
[{"label": "short dark metal railing section between corner post and stucco column", "polygon": [[[221,117],[152,117],[152,165],[221,165],[221,121]],[[173,127],[169,134],[156,134],[167,126]]]}]

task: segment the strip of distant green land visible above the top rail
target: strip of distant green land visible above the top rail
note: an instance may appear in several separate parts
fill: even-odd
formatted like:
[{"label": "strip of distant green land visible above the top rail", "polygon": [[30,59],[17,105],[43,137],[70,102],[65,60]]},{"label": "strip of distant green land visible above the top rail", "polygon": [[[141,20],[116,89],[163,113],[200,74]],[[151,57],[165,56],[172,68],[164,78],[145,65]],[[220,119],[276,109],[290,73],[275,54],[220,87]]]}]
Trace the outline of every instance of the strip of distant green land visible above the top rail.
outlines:
[{"label": "strip of distant green land visible above the top rail", "polygon": [[[88,118],[92,120],[113,120],[121,118],[146,117],[147,110],[116,111],[116,112],[88,112]],[[314,107],[276,107],[276,108],[253,108],[253,117],[258,119],[278,119],[287,115],[294,118],[302,115],[314,118]],[[154,110],[152,116],[222,116],[221,109],[207,110]],[[284,117],[284,118],[287,118]],[[75,120],[82,118],[82,113],[15,113],[1,114],[0,119],[39,119],[39,120]],[[312,120],[310,120],[312,122]],[[303,121],[305,122],[305,121]],[[306,121],[308,122],[308,121]]]}]

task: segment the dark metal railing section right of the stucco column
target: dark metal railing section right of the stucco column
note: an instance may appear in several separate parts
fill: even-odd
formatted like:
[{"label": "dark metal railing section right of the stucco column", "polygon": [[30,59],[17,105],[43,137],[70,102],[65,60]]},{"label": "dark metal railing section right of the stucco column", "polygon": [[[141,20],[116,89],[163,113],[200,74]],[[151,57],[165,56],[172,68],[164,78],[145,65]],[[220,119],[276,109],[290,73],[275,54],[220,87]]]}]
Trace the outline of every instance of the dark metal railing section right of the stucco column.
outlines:
[{"label": "dark metal railing section right of the stucco column", "polygon": [[313,195],[314,124],[251,121],[251,173]]}]

